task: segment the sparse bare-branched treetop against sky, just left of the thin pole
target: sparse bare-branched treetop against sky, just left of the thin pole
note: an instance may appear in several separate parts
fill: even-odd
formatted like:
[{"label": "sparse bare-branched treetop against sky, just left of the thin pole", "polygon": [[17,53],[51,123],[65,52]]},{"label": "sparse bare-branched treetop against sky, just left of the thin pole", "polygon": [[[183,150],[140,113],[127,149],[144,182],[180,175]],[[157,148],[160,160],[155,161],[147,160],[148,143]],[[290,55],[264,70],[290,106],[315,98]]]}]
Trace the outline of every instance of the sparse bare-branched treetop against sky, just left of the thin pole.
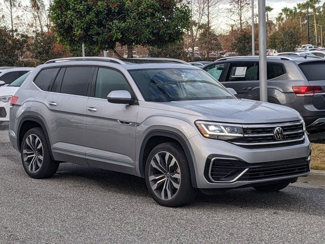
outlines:
[{"label": "sparse bare-branched treetop against sky, just left of the thin pole", "polygon": [[239,30],[243,32],[243,23],[246,20],[246,15],[250,11],[250,0],[230,0],[230,14],[234,17],[234,21],[239,21]]}]

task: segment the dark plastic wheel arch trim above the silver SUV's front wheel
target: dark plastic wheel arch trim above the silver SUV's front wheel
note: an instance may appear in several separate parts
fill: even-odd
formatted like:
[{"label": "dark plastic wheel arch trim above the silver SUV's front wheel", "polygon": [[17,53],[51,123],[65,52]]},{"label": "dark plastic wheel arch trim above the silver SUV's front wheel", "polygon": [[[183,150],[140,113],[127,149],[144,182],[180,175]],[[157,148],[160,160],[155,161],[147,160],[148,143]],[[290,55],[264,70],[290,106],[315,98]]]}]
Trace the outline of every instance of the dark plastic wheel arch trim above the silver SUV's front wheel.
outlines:
[{"label": "dark plastic wheel arch trim above the silver SUV's front wheel", "polygon": [[[170,138],[172,141],[178,142],[178,144],[184,150],[184,153],[185,153],[185,156],[186,156],[186,159],[188,162],[192,186],[197,188],[197,179],[196,179],[193,157],[192,157],[192,153],[190,150],[190,145],[188,145],[186,143],[186,141],[184,140],[184,138],[176,132],[171,132],[171,131],[166,131],[166,130],[153,130],[146,134],[146,136],[144,137],[144,140],[142,141],[141,147],[140,147],[140,154],[139,154],[140,176],[145,177],[145,166],[146,166],[145,148],[146,148],[148,142],[150,141],[150,139],[152,139],[154,137]],[[161,143],[163,143],[163,142],[161,142]],[[158,143],[158,144],[160,144],[160,143]]]}]

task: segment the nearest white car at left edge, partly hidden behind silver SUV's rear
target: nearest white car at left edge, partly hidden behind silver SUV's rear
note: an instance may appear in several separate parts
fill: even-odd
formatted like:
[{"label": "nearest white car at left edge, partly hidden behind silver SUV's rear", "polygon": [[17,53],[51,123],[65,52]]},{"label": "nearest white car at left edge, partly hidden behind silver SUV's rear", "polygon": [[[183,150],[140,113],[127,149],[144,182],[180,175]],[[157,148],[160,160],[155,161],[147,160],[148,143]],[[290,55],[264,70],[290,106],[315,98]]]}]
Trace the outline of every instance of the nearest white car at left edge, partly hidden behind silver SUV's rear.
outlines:
[{"label": "nearest white car at left edge, partly hidden behind silver SUV's rear", "polygon": [[0,87],[0,125],[5,121],[9,121],[9,109],[10,109],[10,100],[11,97],[15,95],[18,88],[25,81],[25,79],[29,76],[31,71],[25,73],[20,76],[14,82],[7,86]]}]

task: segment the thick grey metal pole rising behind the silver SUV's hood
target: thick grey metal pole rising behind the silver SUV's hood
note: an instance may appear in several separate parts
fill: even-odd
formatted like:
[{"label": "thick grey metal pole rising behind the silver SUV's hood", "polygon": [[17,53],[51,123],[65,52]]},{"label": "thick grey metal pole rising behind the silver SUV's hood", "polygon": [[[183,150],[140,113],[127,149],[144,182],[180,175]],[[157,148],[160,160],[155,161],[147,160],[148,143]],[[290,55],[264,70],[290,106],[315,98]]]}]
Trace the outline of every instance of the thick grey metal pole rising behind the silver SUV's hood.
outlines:
[{"label": "thick grey metal pole rising behind the silver SUV's hood", "polygon": [[268,101],[265,0],[258,0],[259,98]]}]

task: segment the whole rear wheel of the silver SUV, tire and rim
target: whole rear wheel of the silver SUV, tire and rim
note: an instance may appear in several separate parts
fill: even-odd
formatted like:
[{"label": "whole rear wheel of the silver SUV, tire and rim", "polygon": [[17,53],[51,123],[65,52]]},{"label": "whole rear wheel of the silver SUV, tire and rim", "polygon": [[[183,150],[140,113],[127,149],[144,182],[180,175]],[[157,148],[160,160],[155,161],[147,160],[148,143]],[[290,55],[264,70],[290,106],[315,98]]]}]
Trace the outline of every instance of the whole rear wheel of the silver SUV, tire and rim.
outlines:
[{"label": "whole rear wheel of the silver SUV, tire and rim", "polygon": [[32,178],[48,178],[55,174],[59,163],[51,159],[41,128],[26,132],[21,144],[21,161],[26,173]]}]

